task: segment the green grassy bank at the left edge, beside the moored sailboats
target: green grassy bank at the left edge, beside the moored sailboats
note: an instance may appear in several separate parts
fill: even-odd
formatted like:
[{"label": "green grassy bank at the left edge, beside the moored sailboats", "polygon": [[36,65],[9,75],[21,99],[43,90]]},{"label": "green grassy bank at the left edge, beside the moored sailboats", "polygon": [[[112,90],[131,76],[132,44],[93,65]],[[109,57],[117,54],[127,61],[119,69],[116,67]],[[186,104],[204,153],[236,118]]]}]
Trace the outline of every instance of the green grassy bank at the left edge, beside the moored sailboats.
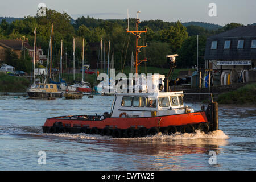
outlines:
[{"label": "green grassy bank at the left edge, beside the moored sailboats", "polygon": [[9,76],[0,72],[0,92],[26,92],[30,85],[27,78]]}]

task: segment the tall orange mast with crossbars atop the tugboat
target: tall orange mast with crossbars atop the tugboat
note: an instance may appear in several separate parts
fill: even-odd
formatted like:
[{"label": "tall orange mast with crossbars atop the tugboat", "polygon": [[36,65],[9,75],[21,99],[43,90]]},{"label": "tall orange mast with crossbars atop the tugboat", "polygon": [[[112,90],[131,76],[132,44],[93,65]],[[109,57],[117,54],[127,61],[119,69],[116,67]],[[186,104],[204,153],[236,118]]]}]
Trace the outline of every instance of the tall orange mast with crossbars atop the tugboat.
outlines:
[{"label": "tall orange mast with crossbars atop the tugboat", "polygon": [[136,66],[136,77],[137,77],[137,73],[138,73],[138,65],[141,64],[142,62],[146,62],[147,61],[147,58],[145,57],[145,60],[138,60],[138,53],[141,52],[140,49],[142,47],[147,47],[146,46],[139,46],[138,45],[138,40],[139,38],[141,38],[141,33],[146,33],[147,32],[147,28],[144,30],[144,31],[138,31],[138,24],[141,23],[139,21],[139,18],[138,18],[138,13],[141,13],[140,11],[137,11],[137,19],[136,19],[136,31],[129,31],[129,28],[127,28],[127,33],[131,33],[131,34],[134,34],[136,35],[136,60],[135,60],[135,66]]}]

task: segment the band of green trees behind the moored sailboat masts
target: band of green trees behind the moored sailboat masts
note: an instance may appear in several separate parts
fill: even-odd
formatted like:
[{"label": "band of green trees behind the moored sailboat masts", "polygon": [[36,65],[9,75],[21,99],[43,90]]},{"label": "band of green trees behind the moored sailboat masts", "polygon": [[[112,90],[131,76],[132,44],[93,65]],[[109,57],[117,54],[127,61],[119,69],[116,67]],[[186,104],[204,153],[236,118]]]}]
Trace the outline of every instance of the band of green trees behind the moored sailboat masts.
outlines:
[{"label": "band of green trees behind the moored sailboat masts", "polygon": [[[0,24],[0,39],[26,39],[30,45],[34,45],[34,28],[36,27],[36,44],[41,46],[44,54],[48,54],[51,24],[53,23],[53,68],[59,67],[60,42],[63,40],[64,59],[67,57],[67,67],[72,67],[73,61],[73,37],[76,39],[76,67],[80,67],[82,38],[85,38],[85,60],[90,63],[98,59],[98,52],[93,52],[89,43],[110,41],[110,52],[114,52],[115,69],[130,66],[131,52],[135,54],[135,36],[126,33],[127,19],[103,20],[89,16],[77,18],[71,23],[71,16],[67,13],[46,10],[46,16],[27,16],[23,19],[8,23],[2,19]],[[130,30],[135,30],[135,18],[129,19]],[[148,66],[168,68],[166,55],[178,53],[177,67],[191,68],[196,64],[197,39],[199,35],[199,64],[204,64],[204,48],[208,36],[242,26],[238,23],[230,23],[217,30],[210,30],[195,25],[185,27],[181,22],[163,22],[163,20],[146,20],[139,24],[139,29],[147,28],[146,34],[141,35],[138,44],[146,45],[141,49],[139,59],[147,57]],[[106,44],[107,44],[106,43]],[[8,52],[7,52],[8,53]],[[9,52],[10,53],[10,52]],[[26,57],[26,56],[24,56]],[[8,57],[7,57],[8,58]],[[8,60],[10,60],[10,56]],[[15,64],[15,63],[12,63]],[[65,68],[65,67],[64,67]],[[30,67],[26,69],[30,72]]]}]

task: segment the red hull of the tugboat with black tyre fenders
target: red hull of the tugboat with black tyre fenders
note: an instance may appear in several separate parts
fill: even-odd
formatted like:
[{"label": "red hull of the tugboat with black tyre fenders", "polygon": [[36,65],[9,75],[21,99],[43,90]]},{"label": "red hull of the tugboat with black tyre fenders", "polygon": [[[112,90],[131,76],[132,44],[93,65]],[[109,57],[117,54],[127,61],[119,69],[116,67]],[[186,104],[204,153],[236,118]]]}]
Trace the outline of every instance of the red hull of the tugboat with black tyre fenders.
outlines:
[{"label": "red hull of the tugboat with black tyre fenders", "polygon": [[[203,125],[202,125],[203,124]],[[207,119],[205,111],[142,118],[105,118],[100,116],[76,115],[46,119],[44,133],[91,133],[112,135],[113,137],[144,137],[148,134],[191,133],[196,129],[216,130]]]}]

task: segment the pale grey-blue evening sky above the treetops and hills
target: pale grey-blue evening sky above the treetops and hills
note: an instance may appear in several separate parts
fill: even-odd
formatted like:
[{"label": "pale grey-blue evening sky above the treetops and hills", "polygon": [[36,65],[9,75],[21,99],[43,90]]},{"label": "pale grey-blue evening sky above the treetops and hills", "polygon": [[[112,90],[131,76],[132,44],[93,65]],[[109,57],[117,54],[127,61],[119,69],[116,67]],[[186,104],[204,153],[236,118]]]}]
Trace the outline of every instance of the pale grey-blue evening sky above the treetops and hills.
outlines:
[{"label": "pale grey-blue evening sky above the treetops and hills", "polygon": [[[235,22],[256,23],[255,0],[0,0],[0,16],[23,18],[34,16],[39,3],[47,8],[67,12],[76,19],[82,15],[100,19],[135,18],[141,11],[141,20],[161,19],[166,22],[207,22],[224,26]],[[209,16],[210,3],[216,4],[216,16]]]}]

